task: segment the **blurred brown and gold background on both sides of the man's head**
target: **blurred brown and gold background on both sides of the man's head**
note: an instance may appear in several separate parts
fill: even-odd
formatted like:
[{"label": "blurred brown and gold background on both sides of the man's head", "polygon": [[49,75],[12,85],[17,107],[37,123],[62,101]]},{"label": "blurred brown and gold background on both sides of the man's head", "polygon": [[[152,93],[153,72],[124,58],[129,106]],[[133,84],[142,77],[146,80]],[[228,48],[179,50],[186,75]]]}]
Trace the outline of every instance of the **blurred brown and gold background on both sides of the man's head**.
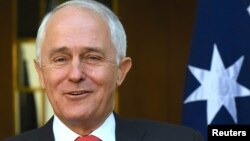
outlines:
[{"label": "blurred brown and gold background on both sides of the man's head", "polygon": [[[42,17],[64,0],[0,1],[0,139],[42,126],[53,111],[34,70]],[[123,23],[133,66],[116,112],[181,123],[196,0],[98,0]]]}]

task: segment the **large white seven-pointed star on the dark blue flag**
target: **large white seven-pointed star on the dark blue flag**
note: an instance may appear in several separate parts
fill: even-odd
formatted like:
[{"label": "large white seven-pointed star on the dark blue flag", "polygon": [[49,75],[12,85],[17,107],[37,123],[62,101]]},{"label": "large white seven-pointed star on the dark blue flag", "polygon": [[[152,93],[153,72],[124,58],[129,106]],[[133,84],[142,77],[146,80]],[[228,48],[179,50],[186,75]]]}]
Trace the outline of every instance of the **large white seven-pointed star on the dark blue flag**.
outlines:
[{"label": "large white seven-pointed star on the dark blue flag", "polygon": [[241,56],[226,69],[214,44],[210,71],[188,66],[201,85],[187,97],[184,103],[206,100],[207,124],[211,124],[222,106],[237,123],[235,97],[250,96],[250,90],[237,82],[243,60],[244,57]]}]

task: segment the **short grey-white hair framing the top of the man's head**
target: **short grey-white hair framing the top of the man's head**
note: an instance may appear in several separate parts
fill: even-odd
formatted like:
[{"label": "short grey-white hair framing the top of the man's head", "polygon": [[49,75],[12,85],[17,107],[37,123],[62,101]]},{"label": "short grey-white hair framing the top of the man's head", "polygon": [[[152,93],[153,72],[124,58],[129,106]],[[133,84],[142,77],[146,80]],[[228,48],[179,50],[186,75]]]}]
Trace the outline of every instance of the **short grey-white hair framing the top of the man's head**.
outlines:
[{"label": "short grey-white hair framing the top of the man's head", "polygon": [[41,45],[44,40],[45,34],[46,34],[46,28],[48,25],[48,22],[52,15],[68,6],[75,6],[79,8],[89,9],[91,11],[96,12],[99,14],[108,24],[108,27],[110,29],[111,33],[111,41],[113,43],[113,46],[116,49],[116,63],[119,64],[121,59],[126,56],[126,48],[127,48],[127,41],[126,41],[126,34],[125,30],[119,21],[118,17],[106,6],[104,6],[101,3],[98,3],[94,0],[70,0],[67,1],[59,6],[57,6],[55,9],[53,9],[51,12],[49,12],[42,20],[41,25],[37,32],[37,38],[36,38],[36,59],[41,64]]}]

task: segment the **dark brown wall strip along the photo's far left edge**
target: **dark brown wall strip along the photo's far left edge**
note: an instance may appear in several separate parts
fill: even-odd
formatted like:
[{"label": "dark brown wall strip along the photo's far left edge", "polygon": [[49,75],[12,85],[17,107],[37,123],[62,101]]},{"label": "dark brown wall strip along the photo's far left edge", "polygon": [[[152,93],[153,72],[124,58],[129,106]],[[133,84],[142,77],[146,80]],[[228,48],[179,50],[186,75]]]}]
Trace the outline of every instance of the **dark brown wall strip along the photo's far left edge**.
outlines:
[{"label": "dark brown wall strip along the photo's far left edge", "polygon": [[14,134],[12,85],[13,1],[0,1],[0,139]]}]

